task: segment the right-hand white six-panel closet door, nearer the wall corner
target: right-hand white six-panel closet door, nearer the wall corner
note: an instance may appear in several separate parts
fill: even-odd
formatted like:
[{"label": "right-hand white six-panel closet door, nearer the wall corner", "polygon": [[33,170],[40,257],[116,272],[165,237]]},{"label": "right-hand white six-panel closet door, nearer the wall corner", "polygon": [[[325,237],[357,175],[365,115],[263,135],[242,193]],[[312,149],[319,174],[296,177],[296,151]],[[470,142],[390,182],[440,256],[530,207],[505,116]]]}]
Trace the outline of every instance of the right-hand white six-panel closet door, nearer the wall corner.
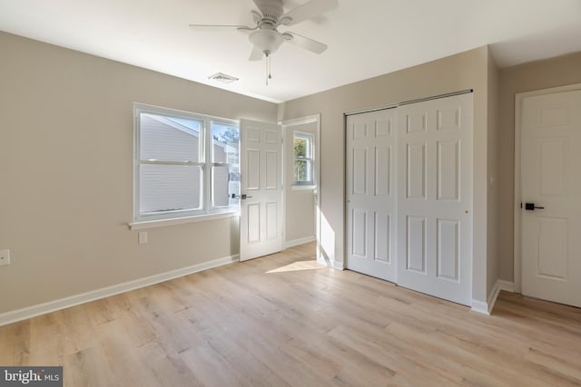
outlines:
[{"label": "right-hand white six-panel closet door, nearer the wall corner", "polygon": [[398,108],[398,285],[472,304],[472,94]]}]

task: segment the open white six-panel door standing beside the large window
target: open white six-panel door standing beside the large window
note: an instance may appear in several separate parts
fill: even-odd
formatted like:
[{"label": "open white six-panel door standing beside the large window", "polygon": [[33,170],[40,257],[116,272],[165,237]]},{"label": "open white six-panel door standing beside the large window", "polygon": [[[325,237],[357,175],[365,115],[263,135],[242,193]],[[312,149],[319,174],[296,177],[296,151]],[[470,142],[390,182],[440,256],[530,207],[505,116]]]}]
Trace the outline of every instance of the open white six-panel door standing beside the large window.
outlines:
[{"label": "open white six-panel door standing beside the large window", "polygon": [[282,250],[281,127],[241,120],[240,260]]}]

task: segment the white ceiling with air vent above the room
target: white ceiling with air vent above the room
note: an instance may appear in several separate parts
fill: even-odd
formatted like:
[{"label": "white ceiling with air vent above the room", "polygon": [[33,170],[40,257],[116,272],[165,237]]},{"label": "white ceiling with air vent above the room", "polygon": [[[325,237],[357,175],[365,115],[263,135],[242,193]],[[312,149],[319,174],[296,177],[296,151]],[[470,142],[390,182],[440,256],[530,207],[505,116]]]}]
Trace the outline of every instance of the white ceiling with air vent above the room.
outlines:
[{"label": "white ceiling with air vent above the room", "polygon": [[[284,0],[285,9],[306,0]],[[580,0],[339,0],[293,31],[329,44],[320,55],[283,44],[249,62],[248,36],[188,24],[252,24],[251,0],[0,0],[0,30],[271,102],[492,44],[501,67],[581,51]],[[3,53],[9,54],[9,53]],[[208,80],[227,73],[239,82]]]}]

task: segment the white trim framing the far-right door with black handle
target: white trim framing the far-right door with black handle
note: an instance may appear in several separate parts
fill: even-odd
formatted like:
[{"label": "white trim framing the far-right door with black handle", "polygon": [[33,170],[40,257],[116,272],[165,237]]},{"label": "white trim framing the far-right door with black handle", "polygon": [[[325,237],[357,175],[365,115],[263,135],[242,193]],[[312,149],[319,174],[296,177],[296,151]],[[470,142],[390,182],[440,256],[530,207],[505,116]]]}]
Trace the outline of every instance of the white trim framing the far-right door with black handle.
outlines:
[{"label": "white trim framing the far-right door with black handle", "polygon": [[553,87],[550,89],[536,90],[534,92],[519,92],[515,95],[515,200],[514,200],[514,283],[513,291],[517,293],[522,292],[522,256],[520,253],[520,239],[521,239],[521,209],[522,191],[520,187],[520,153],[521,153],[521,130],[520,130],[520,114],[523,100],[527,97],[536,95],[552,94],[556,92],[571,92],[581,90],[581,83],[570,84],[567,86]]}]

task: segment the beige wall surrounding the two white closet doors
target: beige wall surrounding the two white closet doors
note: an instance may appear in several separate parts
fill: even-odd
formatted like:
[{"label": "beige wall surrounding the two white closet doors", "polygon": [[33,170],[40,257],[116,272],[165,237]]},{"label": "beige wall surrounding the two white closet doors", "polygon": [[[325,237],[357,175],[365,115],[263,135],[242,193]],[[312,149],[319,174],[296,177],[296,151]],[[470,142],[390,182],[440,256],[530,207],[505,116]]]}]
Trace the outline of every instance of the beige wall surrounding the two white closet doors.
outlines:
[{"label": "beige wall surrounding the two white closet doors", "polygon": [[344,118],[366,110],[446,92],[474,89],[474,279],[473,298],[487,299],[487,94],[488,48],[481,47],[396,73],[286,102],[283,120],[321,114],[322,252],[342,263],[344,251]]}]

